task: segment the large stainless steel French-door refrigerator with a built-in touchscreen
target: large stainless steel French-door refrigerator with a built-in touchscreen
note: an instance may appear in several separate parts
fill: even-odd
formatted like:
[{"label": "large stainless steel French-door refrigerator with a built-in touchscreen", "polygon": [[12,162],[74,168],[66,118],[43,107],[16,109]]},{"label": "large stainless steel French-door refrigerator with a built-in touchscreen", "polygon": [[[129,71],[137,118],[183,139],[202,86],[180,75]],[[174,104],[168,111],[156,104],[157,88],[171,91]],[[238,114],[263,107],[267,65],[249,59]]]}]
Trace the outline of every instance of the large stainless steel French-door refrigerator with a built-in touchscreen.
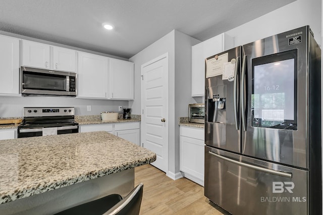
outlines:
[{"label": "large stainless steel French-door refrigerator with a built-in touchscreen", "polygon": [[322,214],[320,53],[305,26],[206,58],[211,201],[239,215]]}]

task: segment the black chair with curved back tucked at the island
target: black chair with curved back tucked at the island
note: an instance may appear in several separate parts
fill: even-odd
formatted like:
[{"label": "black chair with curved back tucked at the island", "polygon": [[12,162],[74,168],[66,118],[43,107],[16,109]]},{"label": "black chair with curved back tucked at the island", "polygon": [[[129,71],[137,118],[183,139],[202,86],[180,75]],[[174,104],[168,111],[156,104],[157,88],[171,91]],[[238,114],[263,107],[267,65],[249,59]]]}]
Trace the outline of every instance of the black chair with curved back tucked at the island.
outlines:
[{"label": "black chair with curved back tucked at the island", "polygon": [[104,215],[138,215],[141,205],[143,184],[138,184],[125,198],[111,194],[75,207],[63,210],[56,215],[66,214],[104,214]]}]

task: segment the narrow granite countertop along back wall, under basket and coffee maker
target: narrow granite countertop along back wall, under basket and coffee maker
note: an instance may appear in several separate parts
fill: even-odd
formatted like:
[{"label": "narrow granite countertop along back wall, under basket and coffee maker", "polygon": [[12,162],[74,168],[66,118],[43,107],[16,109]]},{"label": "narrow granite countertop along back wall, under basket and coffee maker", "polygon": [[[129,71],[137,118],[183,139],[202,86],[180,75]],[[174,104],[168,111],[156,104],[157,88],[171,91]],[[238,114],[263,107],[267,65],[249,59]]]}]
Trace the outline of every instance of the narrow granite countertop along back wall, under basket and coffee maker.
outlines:
[{"label": "narrow granite countertop along back wall, under basket and coffee maker", "polygon": [[105,124],[105,123],[121,123],[121,122],[140,122],[140,115],[131,115],[131,119],[123,119],[122,115],[118,117],[118,120],[108,121],[102,120],[100,115],[91,115],[91,116],[75,116],[75,121],[79,125],[87,124]]}]

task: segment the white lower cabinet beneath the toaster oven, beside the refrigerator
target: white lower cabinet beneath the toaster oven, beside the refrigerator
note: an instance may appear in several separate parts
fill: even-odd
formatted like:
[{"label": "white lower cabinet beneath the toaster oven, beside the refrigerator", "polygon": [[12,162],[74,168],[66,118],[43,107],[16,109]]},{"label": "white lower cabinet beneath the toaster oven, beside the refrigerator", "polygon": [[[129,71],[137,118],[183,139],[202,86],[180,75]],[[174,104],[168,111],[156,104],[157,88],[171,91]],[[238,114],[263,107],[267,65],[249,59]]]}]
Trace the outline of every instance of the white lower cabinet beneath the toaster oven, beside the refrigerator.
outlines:
[{"label": "white lower cabinet beneath the toaster oven, beside the refrigerator", "polygon": [[204,128],[180,127],[180,171],[204,186]]}]

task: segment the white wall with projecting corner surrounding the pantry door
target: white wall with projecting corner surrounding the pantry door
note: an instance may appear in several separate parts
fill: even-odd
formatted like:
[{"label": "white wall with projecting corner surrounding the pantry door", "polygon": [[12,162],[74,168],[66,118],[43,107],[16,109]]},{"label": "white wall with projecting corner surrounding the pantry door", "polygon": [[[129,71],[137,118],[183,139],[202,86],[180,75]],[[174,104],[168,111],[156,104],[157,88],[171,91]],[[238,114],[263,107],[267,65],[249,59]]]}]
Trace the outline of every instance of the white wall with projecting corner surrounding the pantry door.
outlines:
[{"label": "white wall with projecting corner surrounding the pantry door", "polygon": [[129,59],[135,63],[135,100],[129,102],[134,114],[141,114],[141,65],[168,52],[169,56],[169,170],[171,178],[179,175],[178,117],[187,116],[191,97],[191,46],[199,41],[173,30]]}]

